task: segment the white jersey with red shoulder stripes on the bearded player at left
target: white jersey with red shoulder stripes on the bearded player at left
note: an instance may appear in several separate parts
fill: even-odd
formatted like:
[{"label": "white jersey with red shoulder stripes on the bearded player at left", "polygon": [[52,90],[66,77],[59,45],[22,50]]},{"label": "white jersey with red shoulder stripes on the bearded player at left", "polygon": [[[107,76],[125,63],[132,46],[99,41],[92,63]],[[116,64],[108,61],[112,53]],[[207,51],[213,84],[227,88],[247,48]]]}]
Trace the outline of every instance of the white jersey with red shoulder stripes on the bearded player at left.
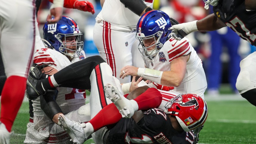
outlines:
[{"label": "white jersey with red shoulder stripes on the bearded player at left", "polygon": [[[85,58],[84,51],[77,52],[75,55],[78,55],[78,58],[73,58],[70,62],[70,60],[65,55],[56,51],[55,49],[43,48],[37,50],[34,54],[34,63],[38,65],[48,65],[60,71],[64,67]],[[65,87],[57,87],[57,89],[58,97],[56,102],[64,114],[74,111],[85,104],[85,90]],[[32,100],[32,102],[34,115],[44,116],[44,112],[40,108],[39,97],[36,100]]]}]

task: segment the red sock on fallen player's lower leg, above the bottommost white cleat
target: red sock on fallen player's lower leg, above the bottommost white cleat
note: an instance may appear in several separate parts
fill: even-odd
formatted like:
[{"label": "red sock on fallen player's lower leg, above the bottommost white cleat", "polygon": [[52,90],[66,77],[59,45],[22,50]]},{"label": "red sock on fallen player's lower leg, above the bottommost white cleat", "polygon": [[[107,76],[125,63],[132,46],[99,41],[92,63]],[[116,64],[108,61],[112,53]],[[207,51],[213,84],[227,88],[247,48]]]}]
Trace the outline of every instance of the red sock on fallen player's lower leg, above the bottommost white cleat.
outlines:
[{"label": "red sock on fallen player's lower leg, above the bottommost white cleat", "polygon": [[101,109],[89,122],[92,124],[94,131],[100,128],[117,123],[122,118],[114,103],[111,103]]}]

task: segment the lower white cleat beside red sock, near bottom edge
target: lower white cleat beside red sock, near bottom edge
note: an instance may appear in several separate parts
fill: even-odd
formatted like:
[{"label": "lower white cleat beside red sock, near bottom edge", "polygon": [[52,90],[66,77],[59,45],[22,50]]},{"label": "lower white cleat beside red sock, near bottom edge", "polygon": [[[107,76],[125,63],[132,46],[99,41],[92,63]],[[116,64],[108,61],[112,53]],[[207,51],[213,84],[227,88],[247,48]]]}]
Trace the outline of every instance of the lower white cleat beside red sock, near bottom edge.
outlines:
[{"label": "lower white cleat beside red sock, near bottom edge", "polygon": [[84,137],[84,128],[80,123],[69,120],[64,114],[59,114],[58,120],[60,121],[60,126],[69,134],[74,144],[83,144],[87,140]]}]

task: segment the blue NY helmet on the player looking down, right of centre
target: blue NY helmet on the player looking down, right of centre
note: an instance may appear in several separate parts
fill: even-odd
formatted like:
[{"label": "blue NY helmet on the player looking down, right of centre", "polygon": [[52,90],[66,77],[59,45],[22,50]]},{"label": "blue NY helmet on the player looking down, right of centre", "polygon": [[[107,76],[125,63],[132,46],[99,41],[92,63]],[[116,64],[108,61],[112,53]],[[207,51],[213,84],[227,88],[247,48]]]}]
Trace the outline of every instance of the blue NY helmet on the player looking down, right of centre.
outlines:
[{"label": "blue NY helmet on the player looking down, right of centre", "polygon": [[[160,10],[151,10],[141,16],[137,24],[136,38],[140,41],[138,49],[141,54],[152,59],[169,39],[172,30],[169,16]],[[155,44],[145,47],[144,40],[154,38]],[[153,50],[147,48],[155,46]]]}]

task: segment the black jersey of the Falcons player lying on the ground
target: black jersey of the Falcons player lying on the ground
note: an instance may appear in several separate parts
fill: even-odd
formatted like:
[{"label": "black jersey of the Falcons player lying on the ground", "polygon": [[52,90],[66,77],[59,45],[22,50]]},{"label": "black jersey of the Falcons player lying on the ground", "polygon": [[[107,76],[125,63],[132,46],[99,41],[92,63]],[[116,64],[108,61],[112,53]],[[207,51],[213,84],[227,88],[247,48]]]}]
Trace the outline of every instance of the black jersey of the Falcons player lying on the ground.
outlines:
[{"label": "black jersey of the Falcons player lying on the ground", "polygon": [[144,117],[137,124],[133,118],[122,118],[107,132],[104,143],[191,144],[194,141],[192,132],[176,131],[161,109],[149,109],[143,113]]}]

